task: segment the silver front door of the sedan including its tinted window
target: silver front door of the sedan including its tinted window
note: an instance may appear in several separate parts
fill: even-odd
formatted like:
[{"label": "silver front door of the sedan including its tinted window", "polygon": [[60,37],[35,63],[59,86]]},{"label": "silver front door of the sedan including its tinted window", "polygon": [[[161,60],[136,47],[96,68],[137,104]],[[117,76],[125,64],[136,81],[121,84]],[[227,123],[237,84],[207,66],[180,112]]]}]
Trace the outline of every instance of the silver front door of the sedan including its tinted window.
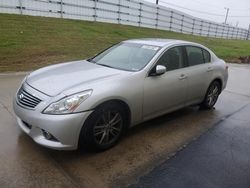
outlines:
[{"label": "silver front door of the sedan including its tinted window", "polygon": [[168,49],[156,65],[166,66],[167,72],[148,76],[144,82],[144,120],[185,106],[187,77],[185,74],[184,48]]}]

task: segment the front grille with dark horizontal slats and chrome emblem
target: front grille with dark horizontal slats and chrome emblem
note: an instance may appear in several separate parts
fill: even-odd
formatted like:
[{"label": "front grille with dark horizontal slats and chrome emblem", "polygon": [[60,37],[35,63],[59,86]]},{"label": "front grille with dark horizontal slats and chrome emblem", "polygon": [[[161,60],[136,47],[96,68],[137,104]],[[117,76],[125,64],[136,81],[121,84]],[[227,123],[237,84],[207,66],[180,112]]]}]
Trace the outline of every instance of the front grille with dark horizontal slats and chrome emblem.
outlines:
[{"label": "front grille with dark horizontal slats and chrome emblem", "polygon": [[17,101],[24,107],[35,108],[42,100],[28,93],[21,87],[17,94]]}]

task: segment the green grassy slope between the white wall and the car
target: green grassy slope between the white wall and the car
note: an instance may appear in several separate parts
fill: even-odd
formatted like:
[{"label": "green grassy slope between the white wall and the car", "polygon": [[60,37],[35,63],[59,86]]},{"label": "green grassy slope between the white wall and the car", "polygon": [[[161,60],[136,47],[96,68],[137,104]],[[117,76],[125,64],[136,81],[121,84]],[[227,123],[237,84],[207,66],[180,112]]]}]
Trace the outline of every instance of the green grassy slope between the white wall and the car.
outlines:
[{"label": "green grassy slope between the white wall and the car", "polygon": [[160,37],[204,44],[230,60],[250,55],[250,42],[118,24],[0,14],[0,72],[29,71],[90,57],[125,39]]}]

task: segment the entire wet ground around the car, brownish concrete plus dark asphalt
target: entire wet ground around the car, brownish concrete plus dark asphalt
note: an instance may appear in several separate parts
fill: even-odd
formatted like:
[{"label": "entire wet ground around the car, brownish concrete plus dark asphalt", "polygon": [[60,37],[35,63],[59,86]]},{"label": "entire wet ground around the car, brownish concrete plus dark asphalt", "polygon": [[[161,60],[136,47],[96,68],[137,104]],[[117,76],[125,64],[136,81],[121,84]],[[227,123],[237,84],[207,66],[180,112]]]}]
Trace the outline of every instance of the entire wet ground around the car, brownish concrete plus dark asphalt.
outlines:
[{"label": "entire wet ground around the car, brownish concrete plus dark asphalt", "polygon": [[145,122],[101,153],[34,143],[12,110],[25,74],[0,74],[0,187],[250,187],[250,65],[229,73],[214,110]]}]

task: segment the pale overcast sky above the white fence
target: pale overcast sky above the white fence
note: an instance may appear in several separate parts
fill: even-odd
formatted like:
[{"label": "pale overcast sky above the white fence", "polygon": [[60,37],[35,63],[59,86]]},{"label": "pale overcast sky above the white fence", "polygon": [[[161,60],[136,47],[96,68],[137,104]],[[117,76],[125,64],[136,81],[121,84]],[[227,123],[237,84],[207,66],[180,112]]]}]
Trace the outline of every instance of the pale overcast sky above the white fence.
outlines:
[{"label": "pale overcast sky above the white fence", "polygon": [[[156,0],[146,1],[155,3]],[[159,0],[159,4],[219,23],[225,21],[225,7],[227,7],[229,8],[228,24],[243,28],[248,28],[250,24],[250,0]]]}]

